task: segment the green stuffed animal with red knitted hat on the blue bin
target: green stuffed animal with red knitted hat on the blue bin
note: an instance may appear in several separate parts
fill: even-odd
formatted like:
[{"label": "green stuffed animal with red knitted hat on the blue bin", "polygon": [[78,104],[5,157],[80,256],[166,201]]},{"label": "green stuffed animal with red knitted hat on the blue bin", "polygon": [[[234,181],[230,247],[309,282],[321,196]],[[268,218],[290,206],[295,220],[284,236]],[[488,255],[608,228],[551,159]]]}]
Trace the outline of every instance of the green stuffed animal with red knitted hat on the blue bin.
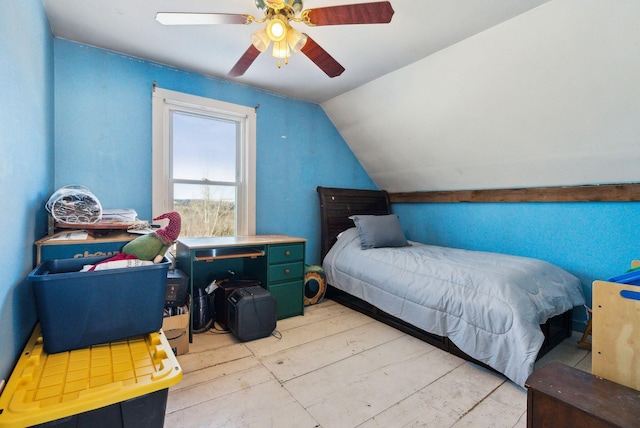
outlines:
[{"label": "green stuffed animal with red knitted hat on the blue bin", "polygon": [[171,244],[178,239],[181,226],[180,213],[176,211],[162,214],[153,220],[165,218],[169,219],[168,225],[130,241],[122,248],[122,253],[136,256],[140,260],[151,260],[154,263],[162,261]]}]

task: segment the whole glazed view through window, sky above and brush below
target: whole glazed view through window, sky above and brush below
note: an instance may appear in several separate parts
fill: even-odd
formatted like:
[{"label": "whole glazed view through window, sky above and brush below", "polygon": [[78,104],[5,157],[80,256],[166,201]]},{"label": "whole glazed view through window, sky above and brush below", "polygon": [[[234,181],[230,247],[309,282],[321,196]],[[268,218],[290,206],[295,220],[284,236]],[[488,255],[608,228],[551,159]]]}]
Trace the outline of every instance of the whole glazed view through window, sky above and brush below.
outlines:
[{"label": "whole glazed view through window, sky above and brush below", "polygon": [[180,236],[235,235],[238,124],[174,111],[171,125],[173,209],[182,217]]}]

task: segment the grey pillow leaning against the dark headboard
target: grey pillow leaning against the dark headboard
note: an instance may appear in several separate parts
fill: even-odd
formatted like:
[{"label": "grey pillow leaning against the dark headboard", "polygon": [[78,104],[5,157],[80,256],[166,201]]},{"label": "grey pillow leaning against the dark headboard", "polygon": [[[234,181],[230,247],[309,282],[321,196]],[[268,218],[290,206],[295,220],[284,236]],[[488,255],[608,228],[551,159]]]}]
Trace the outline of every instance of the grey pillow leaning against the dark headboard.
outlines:
[{"label": "grey pillow leaning against the dark headboard", "polygon": [[349,218],[356,224],[363,250],[409,245],[395,214],[353,215]]}]

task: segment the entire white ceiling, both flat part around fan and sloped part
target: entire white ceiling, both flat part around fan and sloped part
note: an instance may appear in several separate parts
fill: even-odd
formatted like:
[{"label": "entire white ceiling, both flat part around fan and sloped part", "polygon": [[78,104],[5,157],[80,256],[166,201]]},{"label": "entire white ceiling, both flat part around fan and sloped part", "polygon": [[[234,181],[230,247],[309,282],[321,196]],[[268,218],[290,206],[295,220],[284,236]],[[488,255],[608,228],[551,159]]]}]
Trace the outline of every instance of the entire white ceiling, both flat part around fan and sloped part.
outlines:
[{"label": "entire white ceiling, both flat part around fan and sloped part", "polygon": [[[371,0],[306,0],[318,8]],[[55,36],[229,79],[254,0],[44,0]],[[640,2],[391,0],[390,24],[305,28],[345,68],[262,54],[231,80],[322,105],[392,192],[640,182]]]}]

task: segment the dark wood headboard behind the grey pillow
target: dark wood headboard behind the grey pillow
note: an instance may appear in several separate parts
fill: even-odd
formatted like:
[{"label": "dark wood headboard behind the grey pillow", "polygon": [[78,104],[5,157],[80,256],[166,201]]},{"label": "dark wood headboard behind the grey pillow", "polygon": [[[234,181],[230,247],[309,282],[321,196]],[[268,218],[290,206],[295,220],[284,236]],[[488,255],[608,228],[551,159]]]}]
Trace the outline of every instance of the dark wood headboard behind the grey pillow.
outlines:
[{"label": "dark wood headboard behind the grey pillow", "polygon": [[349,216],[391,213],[389,194],[384,190],[337,189],[318,186],[320,196],[321,260],[336,242],[337,236],[350,227]]}]

